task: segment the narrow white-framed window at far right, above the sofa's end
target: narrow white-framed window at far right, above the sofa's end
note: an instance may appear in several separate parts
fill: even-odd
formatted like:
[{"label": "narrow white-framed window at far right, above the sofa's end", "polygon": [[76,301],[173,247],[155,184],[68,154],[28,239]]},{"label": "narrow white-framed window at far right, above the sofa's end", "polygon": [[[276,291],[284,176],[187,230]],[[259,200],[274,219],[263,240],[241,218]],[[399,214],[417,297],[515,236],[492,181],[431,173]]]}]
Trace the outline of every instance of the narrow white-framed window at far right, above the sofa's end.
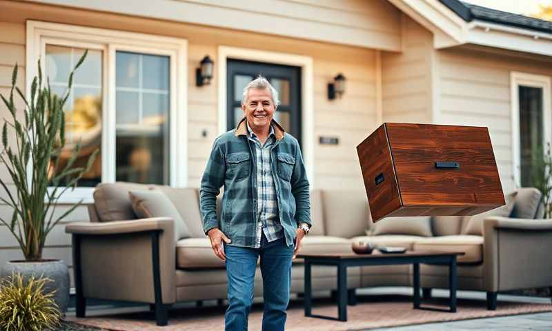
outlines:
[{"label": "narrow white-framed window at far right, above the sofa's end", "polygon": [[514,179],[527,187],[535,152],[551,141],[550,78],[512,72],[511,90]]}]

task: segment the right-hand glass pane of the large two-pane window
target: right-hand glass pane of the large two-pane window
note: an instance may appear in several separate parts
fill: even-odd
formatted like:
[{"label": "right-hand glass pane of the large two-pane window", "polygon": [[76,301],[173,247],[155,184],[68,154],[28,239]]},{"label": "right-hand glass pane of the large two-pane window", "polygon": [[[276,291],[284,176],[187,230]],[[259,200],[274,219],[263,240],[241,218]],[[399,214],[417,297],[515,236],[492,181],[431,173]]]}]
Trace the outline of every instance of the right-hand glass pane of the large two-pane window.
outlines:
[{"label": "right-hand glass pane of the large two-pane window", "polygon": [[119,60],[115,179],[168,184],[169,58],[117,52]]}]

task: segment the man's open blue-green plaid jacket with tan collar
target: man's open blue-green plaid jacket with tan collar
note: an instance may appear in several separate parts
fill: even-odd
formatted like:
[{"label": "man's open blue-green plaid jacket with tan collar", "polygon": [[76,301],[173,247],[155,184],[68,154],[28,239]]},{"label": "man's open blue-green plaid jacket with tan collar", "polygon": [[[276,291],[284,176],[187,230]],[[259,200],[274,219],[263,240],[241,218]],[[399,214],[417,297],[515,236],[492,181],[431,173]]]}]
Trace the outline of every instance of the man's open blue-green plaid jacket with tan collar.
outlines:
[{"label": "man's open blue-green plaid jacket with tan collar", "polygon": [[[237,128],[215,139],[201,178],[199,205],[205,233],[219,228],[230,245],[254,247],[257,225],[257,162],[254,146],[247,139],[246,119]],[[272,121],[276,142],[270,148],[270,167],[276,188],[279,221],[286,245],[292,245],[299,223],[311,223],[309,184],[297,139]],[[221,219],[216,201],[224,185]]]}]

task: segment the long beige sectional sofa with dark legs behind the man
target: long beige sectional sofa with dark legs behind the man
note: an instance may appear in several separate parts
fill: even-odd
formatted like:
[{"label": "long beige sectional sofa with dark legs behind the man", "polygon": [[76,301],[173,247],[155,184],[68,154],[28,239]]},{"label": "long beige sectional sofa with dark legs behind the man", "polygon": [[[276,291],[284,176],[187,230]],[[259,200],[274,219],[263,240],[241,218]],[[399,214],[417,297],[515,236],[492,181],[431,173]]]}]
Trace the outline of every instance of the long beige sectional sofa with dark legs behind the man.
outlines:
[{"label": "long beige sectional sofa with dark legs behind the man", "polygon": [[[157,325],[166,325],[173,303],[226,299],[224,261],[215,256],[203,232],[197,188],[101,183],[94,200],[88,208],[90,222],[66,225],[72,234],[77,317],[84,317],[88,298],[135,301],[150,303]],[[365,192],[313,190],[313,228],[301,253],[350,253],[354,241],[461,251],[458,289],[487,292],[488,308],[494,310],[499,291],[552,285],[552,222],[535,219],[540,192],[523,188],[507,200],[513,202],[491,212],[506,217],[484,215],[479,217],[482,226],[470,225],[468,217],[396,218],[374,224]],[[336,269],[313,266],[313,291],[336,290]],[[448,287],[446,266],[421,265],[420,270],[425,294]],[[255,279],[255,297],[262,297],[260,272]],[[355,288],[411,283],[411,265],[348,270],[353,295]],[[293,260],[291,291],[304,291],[302,259]]]}]

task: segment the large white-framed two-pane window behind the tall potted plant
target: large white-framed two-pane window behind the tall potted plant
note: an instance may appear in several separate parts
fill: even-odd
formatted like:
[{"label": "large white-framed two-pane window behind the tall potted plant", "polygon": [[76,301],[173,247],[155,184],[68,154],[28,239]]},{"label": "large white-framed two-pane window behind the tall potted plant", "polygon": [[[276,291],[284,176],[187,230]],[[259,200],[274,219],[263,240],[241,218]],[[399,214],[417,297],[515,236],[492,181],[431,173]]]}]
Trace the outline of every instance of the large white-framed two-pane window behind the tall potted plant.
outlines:
[{"label": "large white-framed two-pane window behind the tall potted plant", "polygon": [[64,107],[59,168],[78,141],[74,166],[100,152],[60,202],[91,202],[101,182],[186,185],[186,40],[37,21],[27,31],[33,41],[27,59],[34,64],[27,66],[27,86],[41,58],[52,90],[63,95],[70,70],[88,49]]}]

